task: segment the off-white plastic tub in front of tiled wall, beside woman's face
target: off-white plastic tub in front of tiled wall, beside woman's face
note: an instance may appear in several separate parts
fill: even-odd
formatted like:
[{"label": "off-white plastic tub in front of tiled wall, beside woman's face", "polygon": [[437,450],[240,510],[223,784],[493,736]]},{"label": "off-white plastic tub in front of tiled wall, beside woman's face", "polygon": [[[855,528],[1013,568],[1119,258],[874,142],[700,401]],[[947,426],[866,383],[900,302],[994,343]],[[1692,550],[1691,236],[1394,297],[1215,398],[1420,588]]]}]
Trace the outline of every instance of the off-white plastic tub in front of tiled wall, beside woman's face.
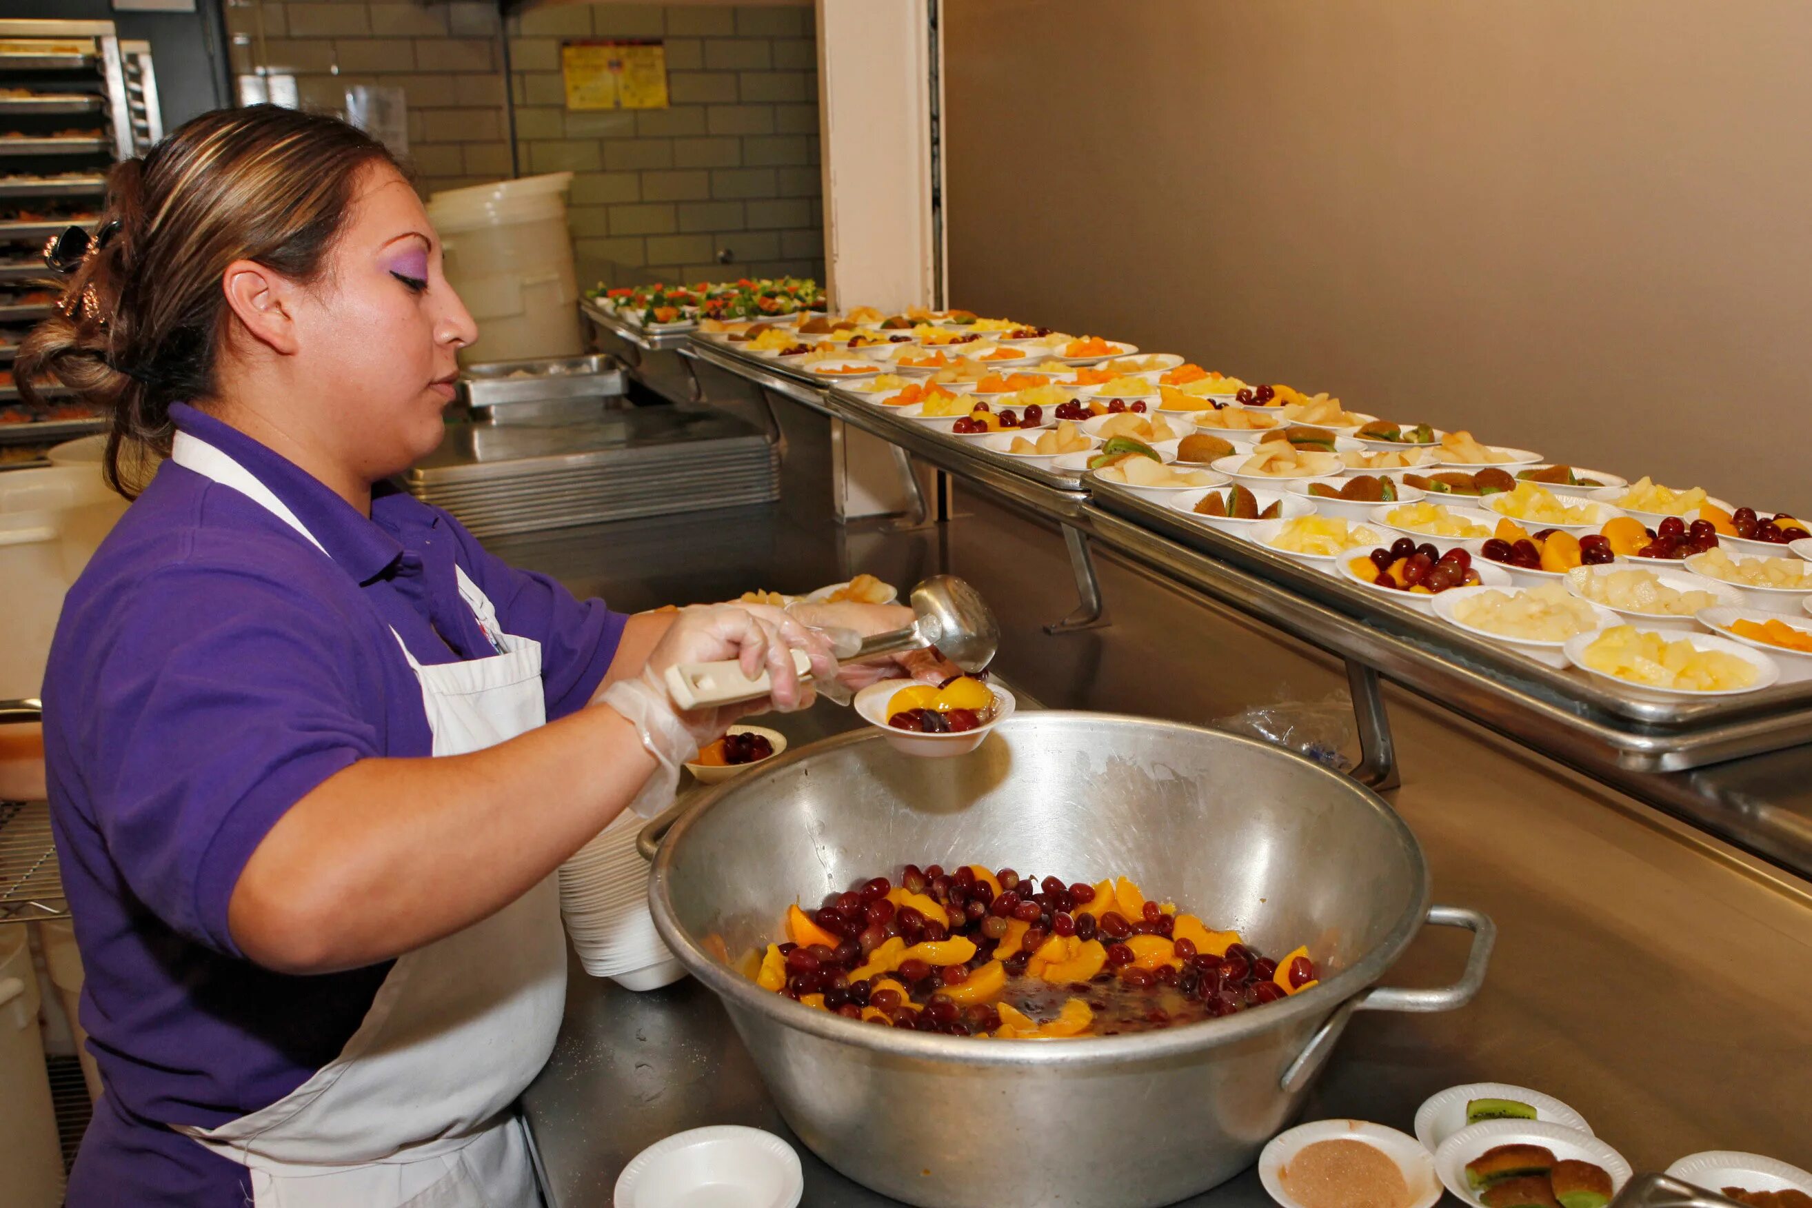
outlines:
[{"label": "off-white plastic tub in front of tiled wall, beside woman's face", "polygon": [[448,281],[478,322],[478,340],[460,350],[460,364],[574,357],[585,350],[565,225],[571,183],[571,172],[553,172],[449,188],[428,199],[428,217],[446,248]]}]

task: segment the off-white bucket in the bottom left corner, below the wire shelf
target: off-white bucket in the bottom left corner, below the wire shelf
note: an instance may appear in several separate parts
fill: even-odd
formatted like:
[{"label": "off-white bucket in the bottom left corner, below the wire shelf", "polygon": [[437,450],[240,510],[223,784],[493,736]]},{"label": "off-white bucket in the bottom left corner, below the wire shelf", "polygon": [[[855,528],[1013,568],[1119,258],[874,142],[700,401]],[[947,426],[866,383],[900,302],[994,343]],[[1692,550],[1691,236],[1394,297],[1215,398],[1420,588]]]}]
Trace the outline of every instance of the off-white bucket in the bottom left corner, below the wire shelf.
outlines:
[{"label": "off-white bucket in the bottom left corner, below the wire shelf", "polygon": [[56,1208],[63,1203],[63,1150],[38,1040],[38,976],[25,927],[0,925],[0,1204]]}]

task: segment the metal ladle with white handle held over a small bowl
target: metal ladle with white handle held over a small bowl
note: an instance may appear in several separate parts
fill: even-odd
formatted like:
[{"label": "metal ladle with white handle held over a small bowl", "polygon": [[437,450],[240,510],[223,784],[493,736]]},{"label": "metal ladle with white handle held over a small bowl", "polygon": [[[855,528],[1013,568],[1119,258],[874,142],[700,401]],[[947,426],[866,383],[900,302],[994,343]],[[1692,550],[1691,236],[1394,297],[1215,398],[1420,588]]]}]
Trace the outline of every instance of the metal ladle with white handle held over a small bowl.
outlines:
[{"label": "metal ladle with white handle held over a small bowl", "polygon": [[[937,647],[966,672],[988,670],[1000,648],[1000,625],[980,592],[953,574],[937,574],[911,589],[911,610],[913,623],[906,628],[873,634],[861,645],[837,643],[837,666]],[[812,663],[805,652],[794,650],[794,666],[801,679],[810,677]],[[750,679],[736,659],[667,668],[667,695],[685,710],[754,701],[770,690],[766,672]]]}]

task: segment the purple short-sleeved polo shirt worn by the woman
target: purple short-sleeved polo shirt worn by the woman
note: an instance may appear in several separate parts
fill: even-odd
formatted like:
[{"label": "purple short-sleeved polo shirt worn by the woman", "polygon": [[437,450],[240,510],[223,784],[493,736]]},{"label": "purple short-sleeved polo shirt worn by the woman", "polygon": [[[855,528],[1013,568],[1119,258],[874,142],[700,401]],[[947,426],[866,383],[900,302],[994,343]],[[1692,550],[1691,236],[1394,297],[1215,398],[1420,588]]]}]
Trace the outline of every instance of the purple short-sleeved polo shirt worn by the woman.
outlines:
[{"label": "purple short-sleeved polo shirt worn by the woman", "polygon": [[397,636],[420,663],[493,654],[455,565],[507,632],[542,643],[549,719],[591,699],[627,619],[504,565],[400,491],[379,487],[368,520],[219,420],[187,406],[172,417],[270,487],[326,554],[170,462],[63,603],[43,746],[87,967],[82,1023],[107,1085],[71,1208],[248,1203],[243,1166],[169,1125],[214,1127],[281,1099],[359,1027],[388,964],[259,969],[234,945],[226,902],[312,788],[359,759],[431,753]]}]

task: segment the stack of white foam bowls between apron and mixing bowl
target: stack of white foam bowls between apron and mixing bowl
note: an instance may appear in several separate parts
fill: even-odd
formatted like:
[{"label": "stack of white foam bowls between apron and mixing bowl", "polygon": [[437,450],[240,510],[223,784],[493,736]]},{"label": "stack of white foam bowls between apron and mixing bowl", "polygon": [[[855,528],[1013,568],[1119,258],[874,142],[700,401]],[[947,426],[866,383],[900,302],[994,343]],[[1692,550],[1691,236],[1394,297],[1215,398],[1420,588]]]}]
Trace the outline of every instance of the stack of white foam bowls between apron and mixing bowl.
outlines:
[{"label": "stack of white foam bowls between apron and mixing bowl", "polygon": [[625,810],[560,866],[560,916],[580,964],[631,991],[685,976],[649,916],[649,862],[636,851],[645,822]]}]

